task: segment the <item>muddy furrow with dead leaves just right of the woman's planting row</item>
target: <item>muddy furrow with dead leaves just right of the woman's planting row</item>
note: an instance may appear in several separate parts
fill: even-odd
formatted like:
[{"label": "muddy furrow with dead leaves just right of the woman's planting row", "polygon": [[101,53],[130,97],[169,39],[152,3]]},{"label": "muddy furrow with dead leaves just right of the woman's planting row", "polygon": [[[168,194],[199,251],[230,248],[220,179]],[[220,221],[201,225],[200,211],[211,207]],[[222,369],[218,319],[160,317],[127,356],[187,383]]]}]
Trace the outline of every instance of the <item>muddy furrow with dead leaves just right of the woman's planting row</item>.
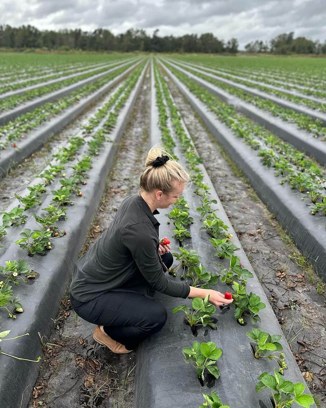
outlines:
[{"label": "muddy furrow with dead leaves just right of the woman's planting row", "polygon": [[317,406],[326,407],[325,284],[176,86],[167,83]]}]

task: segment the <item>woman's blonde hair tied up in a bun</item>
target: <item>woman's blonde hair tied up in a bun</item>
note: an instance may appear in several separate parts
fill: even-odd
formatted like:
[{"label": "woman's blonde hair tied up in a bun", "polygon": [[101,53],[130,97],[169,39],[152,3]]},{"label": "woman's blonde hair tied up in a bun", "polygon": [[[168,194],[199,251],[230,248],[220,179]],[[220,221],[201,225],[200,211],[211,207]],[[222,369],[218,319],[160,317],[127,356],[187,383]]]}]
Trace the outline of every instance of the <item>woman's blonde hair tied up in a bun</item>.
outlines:
[{"label": "woman's blonde hair tied up in a bun", "polygon": [[[170,160],[162,166],[152,166],[151,163],[155,161],[156,157],[161,157],[162,155],[167,155],[170,157]],[[181,164],[176,162],[162,146],[156,144],[148,152],[146,169],[140,176],[139,194],[142,191],[150,193],[155,189],[162,190],[164,194],[168,194],[174,189],[172,182],[177,180],[185,183],[188,179],[189,174],[183,169]]]}]

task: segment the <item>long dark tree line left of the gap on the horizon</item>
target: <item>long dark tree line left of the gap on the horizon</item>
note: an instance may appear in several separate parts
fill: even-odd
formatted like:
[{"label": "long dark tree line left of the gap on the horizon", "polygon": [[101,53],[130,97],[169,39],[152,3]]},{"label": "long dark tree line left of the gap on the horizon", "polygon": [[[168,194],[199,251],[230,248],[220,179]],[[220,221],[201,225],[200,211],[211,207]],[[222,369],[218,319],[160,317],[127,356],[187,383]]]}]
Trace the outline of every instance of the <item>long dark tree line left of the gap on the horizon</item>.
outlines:
[{"label": "long dark tree line left of the gap on the horizon", "polygon": [[43,30],[31,25],[11,27],[0,25],[0,47],[38,48],[69,51],[148,51],[148,52],[186,52],[186,53],[237,53],[238,40],[231,38],[225,42],[212,33],[158,36],[155,30],[149,36],[143,29],[129,29],[125,33],[114,35],[106,29],[93,32],[75,30]]}]

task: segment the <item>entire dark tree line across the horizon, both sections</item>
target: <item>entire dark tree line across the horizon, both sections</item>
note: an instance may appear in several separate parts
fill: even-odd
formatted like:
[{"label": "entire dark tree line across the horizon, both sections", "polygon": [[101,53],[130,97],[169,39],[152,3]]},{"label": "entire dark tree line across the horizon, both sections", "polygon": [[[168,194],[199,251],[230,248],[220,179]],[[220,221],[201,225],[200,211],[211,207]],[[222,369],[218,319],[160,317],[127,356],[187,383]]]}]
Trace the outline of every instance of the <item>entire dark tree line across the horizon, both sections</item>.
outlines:
[{"label": "entire dark tree line across the horizon, both sections", "polygon": [[[156,29],[152,36],[143,29],[129,29],[114,35],[107,29],[93,32],[75,30],[39,30],[31,25],[11,27],[0,25],[0,47],[11,49],[82,50],[118,52],[185,52],[185,53],[238,53],[238,40],[219,40],[212,33],[185,34],[180,37],[160,37]],[[245,46],[247,53],[273,54],[326,54],[326,41],[320,43],[306,37],[294,38],[294,32],[283,33],[270,42],[256,40]]]}]

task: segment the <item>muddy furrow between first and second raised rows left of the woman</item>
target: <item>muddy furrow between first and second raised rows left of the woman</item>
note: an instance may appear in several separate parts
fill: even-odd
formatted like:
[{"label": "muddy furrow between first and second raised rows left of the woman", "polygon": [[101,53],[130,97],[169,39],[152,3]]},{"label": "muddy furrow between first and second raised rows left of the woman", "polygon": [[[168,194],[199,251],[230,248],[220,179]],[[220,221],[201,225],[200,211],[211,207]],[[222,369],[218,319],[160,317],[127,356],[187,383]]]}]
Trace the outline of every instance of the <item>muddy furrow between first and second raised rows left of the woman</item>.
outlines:
[{"label": "muddy furrow between first and second raised rows left of the woman", "polygon": [[4,211],[15,199],[14,194],[20,195],[21,191],[28,186],[31,180],[42,172],[42,169],[53,160],[52,155],[57,153],[60,147],[68,144],[70,137],[82,136],[81,126],[88,124],[90,118],[111,98],[112,93],[115,92],[118,86],[110,89],[103,97],[88,106],[63,131],[52,136],[41,149],[24,159],[24,162],[18,164],[15,169],[10,170],[4,179],[0,179],[0,211]]}]

